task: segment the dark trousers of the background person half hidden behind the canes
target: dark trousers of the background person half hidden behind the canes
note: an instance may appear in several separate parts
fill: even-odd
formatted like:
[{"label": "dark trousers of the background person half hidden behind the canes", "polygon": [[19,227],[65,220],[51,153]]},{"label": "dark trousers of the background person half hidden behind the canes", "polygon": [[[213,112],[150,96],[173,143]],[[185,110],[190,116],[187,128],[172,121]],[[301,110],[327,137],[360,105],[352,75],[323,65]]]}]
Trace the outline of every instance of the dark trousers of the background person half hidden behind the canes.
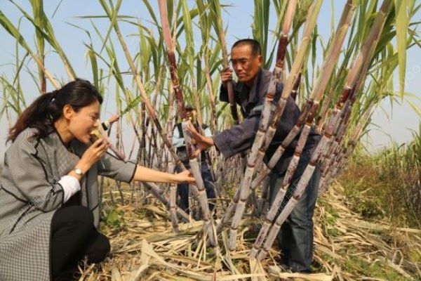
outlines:
[{"label": "dark trousers of the background person half hidden behind the canes", "polygon": [[[201,176],[203,178],[203,184],[206,189],[206,196],[208,200],[215,199],[215,183],[213,182],[212,174],[210,174],[210,169],[208,164],[201,164]],[[189,214],[189,184],[180,183],[177,185],[177,195],[180,197],[178,200],[178,207]],[[215,207],[215,202],[209,203],[209,210],[212,211]]]}]

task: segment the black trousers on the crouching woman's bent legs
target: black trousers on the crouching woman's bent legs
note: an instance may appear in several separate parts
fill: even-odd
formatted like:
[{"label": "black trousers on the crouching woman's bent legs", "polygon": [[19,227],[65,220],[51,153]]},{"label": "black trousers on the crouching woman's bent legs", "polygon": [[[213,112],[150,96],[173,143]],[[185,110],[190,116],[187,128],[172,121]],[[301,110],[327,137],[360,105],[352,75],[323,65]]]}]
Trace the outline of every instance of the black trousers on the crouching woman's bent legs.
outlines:
[{"label": "black trousers on the crouching woman's bent legs", "polygon": [[99,263],[109,253],[109,240],[93,226],[93,213],[83,206],[55,211],[51,221],[51,269],[53,280],[72,280],[78,263]]}]

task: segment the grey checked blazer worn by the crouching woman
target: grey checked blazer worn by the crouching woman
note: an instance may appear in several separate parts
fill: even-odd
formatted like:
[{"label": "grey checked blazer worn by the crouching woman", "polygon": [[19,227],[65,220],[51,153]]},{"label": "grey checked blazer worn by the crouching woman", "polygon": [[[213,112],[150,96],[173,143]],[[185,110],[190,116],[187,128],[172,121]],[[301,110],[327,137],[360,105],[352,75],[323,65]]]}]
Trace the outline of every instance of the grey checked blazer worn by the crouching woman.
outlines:
[{"label": "grey checked blazer worn by the crouching woman", "polygon": [[[8,148],[0,176],[0,280],[51,280],[51,218],[63,205],[60,178],[71,171],[87,146],[72,141],[69,148],[58,133],[32,138],[25,129]],[[98,175],[132,180],[135,164],[106,154],[81,181],[81,204],[99,223]]]}]

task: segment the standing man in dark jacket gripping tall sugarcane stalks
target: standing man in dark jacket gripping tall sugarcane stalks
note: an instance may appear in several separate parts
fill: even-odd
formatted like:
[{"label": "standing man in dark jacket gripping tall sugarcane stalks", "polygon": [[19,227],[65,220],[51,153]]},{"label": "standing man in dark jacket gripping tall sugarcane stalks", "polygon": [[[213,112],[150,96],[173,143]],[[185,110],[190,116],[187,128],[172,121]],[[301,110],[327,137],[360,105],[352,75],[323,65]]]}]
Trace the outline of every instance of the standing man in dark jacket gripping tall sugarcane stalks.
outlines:
[{"label": "standing man in dark jacket gripping tall sugarcane stalks", "polygon": [[[231,63],[238,77],[238,81],[236,83],[233,82],[235,100],[241,106],[244,122],[231,129],[222,131],[211,138],[199,135],[199,133],[194,131],[192,126],[189,126],[189,131],[192,131],[199,149],[206,149],[211,145],[215,145],[224,157],[231,157],[234,154],[251,148],[253,145],[269,81],[272,78],[272,72],[261,69],[262,55],[260,54],[260,44],[253,39],[236,41],[231,50]],[[223,70],[221,80],[220,100],[228,102],[227,81],[232,80],[232,70],[229,70],[229,68]],[[274,103],[277,103],[277,100],[279,100],[282,89],[282,85],[277,87]],[[279,122],[275,136],[269,145],[265,161],[268,161],[272,157],[274,151],[287,136],[290,129],[293,128],[299,116],[300,110],[295,105],[293,98],[289,97],[283,115],[281,116],[281,122]],[[276,196],[276,192],[282,186],[283,176],[285,176],[286,169],[293,156],[298,138],[299,136],[288,146],[283,157],[279,159],[274,171],[272,171],[269,193],[271,203]],[[302,153],[297,171],[295,171],[293,176],[290,189],[287,192],[289,197],[295,185],[300,180],[300,176],[309,162],[312,150],[315,148],[319,139],[320,136],[312,130]],[[313,252],[312,216],[316,204],[319,177],[320,171],[316,169],[312,181],[310,181],[309,186],[307,186],[301,200],[288,217],[286,223],[283,223],[277,237],[283,253],[283,263],[294,272],[311,272],[310,265],[312,263]],[[281,208],[286,204],[289,197],[285,198]]]}]

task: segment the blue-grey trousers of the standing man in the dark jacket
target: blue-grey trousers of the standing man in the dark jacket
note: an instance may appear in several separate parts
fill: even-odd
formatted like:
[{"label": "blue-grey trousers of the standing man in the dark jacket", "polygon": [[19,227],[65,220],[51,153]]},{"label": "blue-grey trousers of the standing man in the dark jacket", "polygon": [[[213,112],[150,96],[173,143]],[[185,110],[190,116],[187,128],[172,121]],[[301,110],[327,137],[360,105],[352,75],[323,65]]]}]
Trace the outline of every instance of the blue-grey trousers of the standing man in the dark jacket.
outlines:
[{"label": "blue-grey trousers of the standing man in the dark jacket", "polygon": [[[293,195],[295,187],[300,181],[302,172],[308,163],[308,158],[301,159],[293,180],[286,192],[281,209],[286,205]],[[316,206],[317,193],[320,181],[320,169],[316,167],[314,174],[309,181],[302,197],[295,205],[286,221],[281,226],[278,236],[278,244],[283,254],[283,263],[294,272],[309,272],[313,259],[313,214]],[[272,204],[279,188],[282,188],[283,176],[276,173],[270,176],[269,202]]]}]

